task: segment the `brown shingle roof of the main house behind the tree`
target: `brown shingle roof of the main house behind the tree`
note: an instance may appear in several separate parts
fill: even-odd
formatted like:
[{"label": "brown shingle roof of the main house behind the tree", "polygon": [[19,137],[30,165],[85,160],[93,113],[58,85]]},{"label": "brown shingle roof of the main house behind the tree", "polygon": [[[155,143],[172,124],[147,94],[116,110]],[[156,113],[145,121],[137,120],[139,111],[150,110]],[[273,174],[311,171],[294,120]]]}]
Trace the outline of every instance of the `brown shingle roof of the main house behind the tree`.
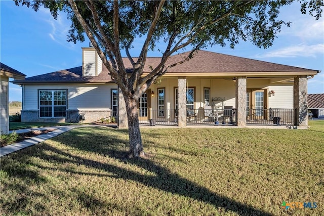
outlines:
[{"label": "brown shingle roof of the main house behind the tree", "polygon": [[[167,65],[174,64],[185,58],[187,53],[171,56]],[[146,66],[143,73],[151,72],[150,66],[153,68],[160,63],[160,57],[147,57]],[[128,58],[123,58],[127,72],[132,72],[133,68]],[[137,61],[137,58],[134,58]],[[310,70],[300,67],[293,67],[248,58],[241,58],[231,55],[224,55],[213,53],[209,51],[200,50],[194,55],[194,58],[188,62],[177,65],[168,69],[165,76],[172,76],[178,73],[186,74],[186,76],[193,74],[207,74],[213,76],[221,75],[240,75],[240,74],[257,74],[267,75],[267,73],[276,75],[313,75],[318,73],[317,70]],[[55,71],[38,76],[28,77],[25,80],[16,80],[14,83],[31,83],[31,82],[110,82],[111,78],[108,75],[108,70],[102,64],[102,72],[96,76],[82,76],[82,66],[70,68],[66,70]]]}]

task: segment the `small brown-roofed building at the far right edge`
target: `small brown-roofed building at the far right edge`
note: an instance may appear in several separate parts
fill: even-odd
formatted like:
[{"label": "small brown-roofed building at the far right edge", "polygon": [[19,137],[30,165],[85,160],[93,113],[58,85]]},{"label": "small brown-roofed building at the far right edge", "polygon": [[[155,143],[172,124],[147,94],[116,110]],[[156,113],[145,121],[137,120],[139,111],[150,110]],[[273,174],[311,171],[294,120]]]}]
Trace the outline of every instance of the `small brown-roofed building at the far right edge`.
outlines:
[{"label": "small brown-roofed building at the far right edge", "polygon": [[308,94],[308,116],[324,118],[324,94]]}]

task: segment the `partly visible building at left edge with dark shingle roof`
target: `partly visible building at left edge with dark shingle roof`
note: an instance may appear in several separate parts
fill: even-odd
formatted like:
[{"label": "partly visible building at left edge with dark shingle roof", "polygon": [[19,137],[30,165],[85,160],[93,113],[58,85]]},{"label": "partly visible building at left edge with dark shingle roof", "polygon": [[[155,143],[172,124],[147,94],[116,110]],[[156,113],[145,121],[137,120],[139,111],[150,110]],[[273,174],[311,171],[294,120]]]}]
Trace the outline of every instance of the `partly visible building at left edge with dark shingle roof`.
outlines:
[{"label": "partly visible building at left edge with dark shingle roof", "polygon": [[9,132],[9,78],[24,79],[25,74],[15,70],[3,63],[0,63],[0,83],[1,83],[1,134],[8,134]]}]

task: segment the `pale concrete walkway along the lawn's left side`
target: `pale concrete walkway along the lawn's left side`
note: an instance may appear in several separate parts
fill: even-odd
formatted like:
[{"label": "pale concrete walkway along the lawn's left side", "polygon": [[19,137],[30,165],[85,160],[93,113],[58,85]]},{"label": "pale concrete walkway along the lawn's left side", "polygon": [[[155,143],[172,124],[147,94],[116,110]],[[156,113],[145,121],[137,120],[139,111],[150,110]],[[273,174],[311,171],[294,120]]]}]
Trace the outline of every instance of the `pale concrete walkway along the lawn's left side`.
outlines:
[{"label": "pale concrete walkway along the lawn's left side", "polygon": [[[51,139],[53,137],[56,137],[60,134],[63,134],[67,131],[70,131],[70,129],[75,128],[76,125],[67,125],[67,126],[55,126],[55,127],[40,127],[40,128],[28,128],[28,129],[19,129],[16,130],[15,132],[17,134],[21,134],[21,133],[27,133],[30,131],[46,131],[47,129],[55,129],[55,131],[49,132],[47,134],[42,134],[42,135],[38,135],[35,137],[32,137],[30,139],[26,139],[20,143],[15,143],[12,145],[8,145],[8,146],[4,146],[1,147],[0,149],[0,157],[5,156],[7,154],[13,153],[15,151],[19,151],[21,149],[24,149],[26,147],[35,145],[37,143],[41,143],[45,140]],[[9,133],[13,133],[13,131],[10,131]]]}]

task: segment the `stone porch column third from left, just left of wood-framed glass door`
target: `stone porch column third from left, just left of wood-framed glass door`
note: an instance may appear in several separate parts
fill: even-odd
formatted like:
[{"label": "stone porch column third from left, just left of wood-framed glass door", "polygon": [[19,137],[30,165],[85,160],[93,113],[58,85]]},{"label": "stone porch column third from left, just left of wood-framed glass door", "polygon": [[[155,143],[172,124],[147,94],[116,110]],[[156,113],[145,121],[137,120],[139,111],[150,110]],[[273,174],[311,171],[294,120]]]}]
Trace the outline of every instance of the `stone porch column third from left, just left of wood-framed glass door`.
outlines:
[{"label": "stone porch column third from left, just left of wood-framed glass door", "polygon": [[247,77],[238,76],[235,82],[236,125],[247,126]]}]

